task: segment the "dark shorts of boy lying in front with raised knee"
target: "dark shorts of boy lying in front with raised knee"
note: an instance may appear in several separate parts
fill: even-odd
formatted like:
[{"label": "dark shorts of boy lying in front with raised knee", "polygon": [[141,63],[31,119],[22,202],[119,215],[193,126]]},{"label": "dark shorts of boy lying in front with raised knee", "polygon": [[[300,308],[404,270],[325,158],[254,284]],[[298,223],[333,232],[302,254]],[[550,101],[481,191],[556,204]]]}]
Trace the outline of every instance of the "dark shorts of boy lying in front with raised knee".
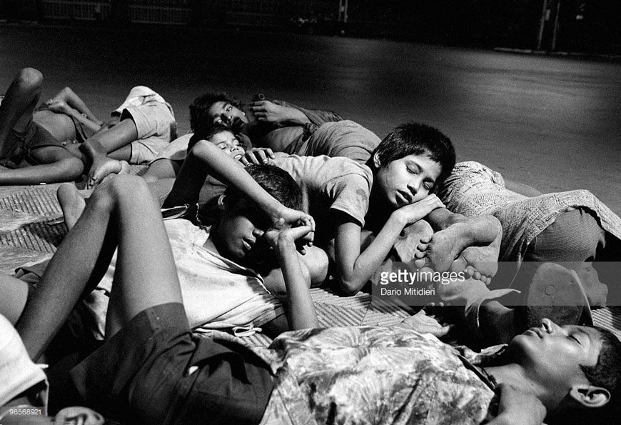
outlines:
[{"label": "dark shorts of boy lying in front with raised knee", "polygon": [[273,389],[245,347],[193,336],[178,303],[142,311],[71,379],[85,404],[129,424],[258,424]]}]

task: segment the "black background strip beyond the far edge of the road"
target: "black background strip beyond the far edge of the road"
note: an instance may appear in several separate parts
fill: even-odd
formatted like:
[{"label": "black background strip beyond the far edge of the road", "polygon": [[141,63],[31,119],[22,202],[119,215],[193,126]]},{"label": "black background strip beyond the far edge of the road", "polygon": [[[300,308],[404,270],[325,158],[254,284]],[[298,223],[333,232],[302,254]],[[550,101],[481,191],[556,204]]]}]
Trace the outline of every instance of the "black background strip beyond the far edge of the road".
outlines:
[{"label": "black background strip beyond the far edge of the road", "polygon": [[[339,4],[339,0],[0,0],[0,19],[323,34],[344,30],[350,36],[433,44],[621,52],[618,0],[349,0],[346,24],[340,22]],[[549,11],[540,38],[544,4]]]}]

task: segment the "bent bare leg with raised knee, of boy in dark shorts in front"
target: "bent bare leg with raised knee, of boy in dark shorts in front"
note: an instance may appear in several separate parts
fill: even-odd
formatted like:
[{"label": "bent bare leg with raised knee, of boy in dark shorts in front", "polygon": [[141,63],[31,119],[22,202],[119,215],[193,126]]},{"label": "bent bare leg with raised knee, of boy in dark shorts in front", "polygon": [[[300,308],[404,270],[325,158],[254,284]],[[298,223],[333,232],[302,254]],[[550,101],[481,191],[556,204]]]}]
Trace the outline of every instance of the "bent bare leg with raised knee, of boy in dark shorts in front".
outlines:
[{"label": "bent bare leg with raised knee, of boy in dark shorts in front", "polygon": [[113,179],[94,191],[16,325],[32,359],[41,356],[85,289],[104,276],[117,245],[116,316],[126,321],[151,306],[182,302],[166,229],[146,182]]}]

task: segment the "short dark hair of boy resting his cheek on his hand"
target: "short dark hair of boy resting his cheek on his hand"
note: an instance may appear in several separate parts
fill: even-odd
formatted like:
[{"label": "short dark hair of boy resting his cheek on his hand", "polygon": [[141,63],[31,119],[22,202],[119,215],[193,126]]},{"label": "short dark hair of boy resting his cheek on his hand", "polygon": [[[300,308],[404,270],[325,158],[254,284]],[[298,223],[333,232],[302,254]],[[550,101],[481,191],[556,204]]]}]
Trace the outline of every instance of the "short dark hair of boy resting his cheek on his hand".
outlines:
[{"label": "short dark hair of boy resting his cheek on his hand", "polygon": [[434,189],[443,183],[455,166],[455,149],[450,139],[435,127],[415,122],[401,124],[385,136],[368,161],[371,169],[375,169],[375,154],[378,154],[382,166],[408,155],[428,156],[442,169]]}]

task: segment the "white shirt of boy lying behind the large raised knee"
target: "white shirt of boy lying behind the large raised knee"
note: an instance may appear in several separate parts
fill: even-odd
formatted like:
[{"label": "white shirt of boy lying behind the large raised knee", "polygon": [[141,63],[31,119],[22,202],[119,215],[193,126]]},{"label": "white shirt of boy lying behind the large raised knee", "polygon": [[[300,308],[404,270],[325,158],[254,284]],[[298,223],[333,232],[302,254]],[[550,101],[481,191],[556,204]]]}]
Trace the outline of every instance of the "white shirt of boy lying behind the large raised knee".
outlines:
[{"label": "white shirt of boy lying behind the large raised knee", "polygon": [[[203,247],[208,228],[185,219],[164,221],[179,276],[183,306],[194,331],[261,326],[284,314],[281,302],[264,286],[261,275]],[[116,267],[113,256],[106,276],[85,300],[103,339],[108,299]]]}]

